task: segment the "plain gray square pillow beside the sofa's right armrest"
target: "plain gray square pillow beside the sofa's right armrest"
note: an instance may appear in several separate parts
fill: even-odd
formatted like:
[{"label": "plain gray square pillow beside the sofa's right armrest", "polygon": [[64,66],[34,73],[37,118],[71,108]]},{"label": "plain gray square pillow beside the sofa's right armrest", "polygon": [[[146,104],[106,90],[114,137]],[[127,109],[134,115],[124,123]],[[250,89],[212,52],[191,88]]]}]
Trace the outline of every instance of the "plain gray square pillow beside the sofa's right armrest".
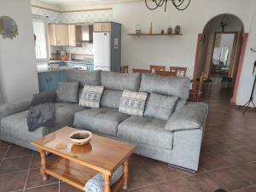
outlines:
[{"label": "plain gray square pillow beside the sofa's right armrest", "polygon": [[149,96],[144,115],[155,119],[167,120],[177,102],[177,96],[163,96],[152,93]]}]

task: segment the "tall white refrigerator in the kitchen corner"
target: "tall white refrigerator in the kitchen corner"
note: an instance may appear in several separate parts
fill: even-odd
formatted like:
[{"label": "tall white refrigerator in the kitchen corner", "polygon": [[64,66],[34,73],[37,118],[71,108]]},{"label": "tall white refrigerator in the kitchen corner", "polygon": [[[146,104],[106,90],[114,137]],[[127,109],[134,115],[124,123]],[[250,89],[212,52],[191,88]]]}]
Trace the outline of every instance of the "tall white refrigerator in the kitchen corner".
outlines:
[{"label": "tall white refrigerator in the kitchen corner", "polygon": [[94,70],[111,71],[110,32],[93,33]]}]

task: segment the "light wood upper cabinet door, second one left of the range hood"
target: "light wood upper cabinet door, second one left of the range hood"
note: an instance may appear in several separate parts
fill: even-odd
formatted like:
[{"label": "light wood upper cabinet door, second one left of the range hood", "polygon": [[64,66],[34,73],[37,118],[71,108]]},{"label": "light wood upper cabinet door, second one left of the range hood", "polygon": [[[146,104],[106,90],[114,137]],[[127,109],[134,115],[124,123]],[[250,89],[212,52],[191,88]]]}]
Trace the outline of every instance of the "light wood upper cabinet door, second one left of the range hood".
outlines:
[{"label": "light wood upper cabinet door, second one left of the range hood", "polygon": [[68,46],[68,26],[56,25],[56,39],[58,46]]}]

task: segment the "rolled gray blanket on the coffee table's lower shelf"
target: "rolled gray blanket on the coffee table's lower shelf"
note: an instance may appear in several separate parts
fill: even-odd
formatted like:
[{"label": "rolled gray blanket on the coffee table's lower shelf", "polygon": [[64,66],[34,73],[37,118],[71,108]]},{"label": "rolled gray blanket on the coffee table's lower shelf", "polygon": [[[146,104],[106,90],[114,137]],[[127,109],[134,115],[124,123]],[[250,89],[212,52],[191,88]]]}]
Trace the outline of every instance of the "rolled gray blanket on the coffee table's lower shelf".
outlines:
[{"label": "rolled gray blanket on the coffee table's lower shelf", "polygon": [[[119,166],[119,168],[113,172],[113,176],[111,177],[110,184],[116,183],[120,177],[123,175],[123,166]],[[102,173],[96,174],[95,177],[90,178],[90,180],[85,183],[84,186],[85,192],[104,192],[104,178],[102,177]]]}]

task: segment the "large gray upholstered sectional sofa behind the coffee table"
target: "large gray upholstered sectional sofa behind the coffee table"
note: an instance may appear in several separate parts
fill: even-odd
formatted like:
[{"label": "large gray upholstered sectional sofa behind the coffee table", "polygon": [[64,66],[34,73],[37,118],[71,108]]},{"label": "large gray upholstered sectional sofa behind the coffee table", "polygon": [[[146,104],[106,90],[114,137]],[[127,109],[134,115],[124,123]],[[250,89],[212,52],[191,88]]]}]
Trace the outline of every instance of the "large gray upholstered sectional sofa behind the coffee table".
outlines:
[{"label": "large gray upholstered sectional sofa behind the coffee table", "polygon": [[[68,70],[67,76],[68,81],[79,81],[79,93],[83,84],[104,86],[101,108],[84,108],[78,103],[56,102],[55,127],[41,127],[29,132],[26,116],[31,100],[5,103],[0,105],[0,138],[32,148],[32,140],[64,125],[73,125],[98,135],[134,143],[137,145],[136,154],[193,172],[198,170],[208,108],[204,103],[186,102],[189,96],[189,79],[79,70]],[[177,96],[178,101],[172,116],[167,120],[130,116],[119,113],[123,90]]]}]

